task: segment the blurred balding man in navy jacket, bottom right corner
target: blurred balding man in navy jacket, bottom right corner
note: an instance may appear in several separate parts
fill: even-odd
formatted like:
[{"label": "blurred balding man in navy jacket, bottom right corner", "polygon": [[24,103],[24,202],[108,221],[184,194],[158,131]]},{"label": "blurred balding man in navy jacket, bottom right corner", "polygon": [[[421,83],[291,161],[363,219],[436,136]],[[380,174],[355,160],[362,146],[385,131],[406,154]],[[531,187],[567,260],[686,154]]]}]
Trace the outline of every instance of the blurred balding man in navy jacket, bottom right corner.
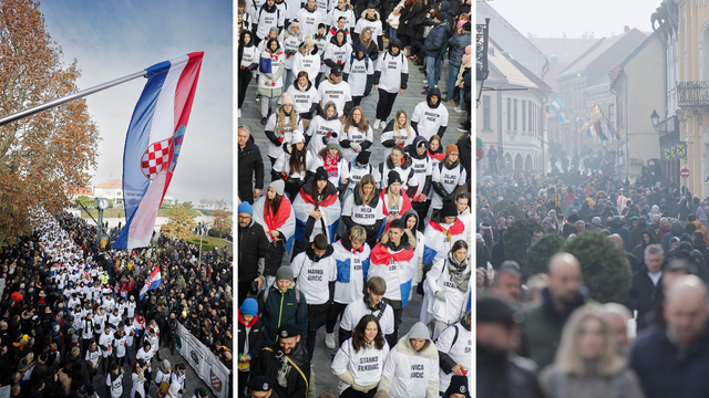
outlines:
[{"label": "blurred balding man in navy jacket, bottom right corner", "polygon": [[630,354],[648,398],[703,397],[709,390],[707,286],[695,275],[676,279],[667,289],[664,320],[638,335]]}]

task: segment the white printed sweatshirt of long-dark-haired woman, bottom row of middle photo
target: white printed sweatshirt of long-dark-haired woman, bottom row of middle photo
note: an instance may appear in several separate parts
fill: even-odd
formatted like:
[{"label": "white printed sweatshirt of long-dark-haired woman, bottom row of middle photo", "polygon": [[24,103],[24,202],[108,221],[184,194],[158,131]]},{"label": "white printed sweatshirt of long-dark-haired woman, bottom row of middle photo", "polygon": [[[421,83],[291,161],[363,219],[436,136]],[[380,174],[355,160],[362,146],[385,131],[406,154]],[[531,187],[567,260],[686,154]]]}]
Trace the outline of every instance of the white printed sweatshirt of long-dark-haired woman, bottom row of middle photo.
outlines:
[{"label": "white printed sweatshirt of long-dark-haired woman, bottom row of middle photo", "polygon": [[[352,339],[348,338],[332,359],[332,374],[341,375],[350,371],[358,386],[370,386],[379,383],[384,369],[384,362],[389,355],[389,344],[384,342],[382,349],[374,347],[360,348],[359,353],[352,348]],[[338,392],[348,389],[350,386],[340,380]]]}]

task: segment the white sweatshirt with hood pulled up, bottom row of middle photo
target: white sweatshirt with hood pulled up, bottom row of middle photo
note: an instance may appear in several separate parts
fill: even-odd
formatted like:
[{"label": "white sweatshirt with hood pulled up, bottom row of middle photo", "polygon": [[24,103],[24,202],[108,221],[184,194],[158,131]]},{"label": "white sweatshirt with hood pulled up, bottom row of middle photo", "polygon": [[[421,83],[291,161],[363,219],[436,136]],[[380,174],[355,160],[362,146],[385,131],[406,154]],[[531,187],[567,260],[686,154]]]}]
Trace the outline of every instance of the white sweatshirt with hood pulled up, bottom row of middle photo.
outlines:
[{"label": "white sweatshirt with hood pulled up, bottom row of middle photo", "polygon": [[[411,346],[412,338],[425,339],[420,352]],[[415,323],[409,333],[392,348],[379,391],[389,392],[391,398],[425,398],[439,394],[439,352],[430,338],[429,328]]]}]

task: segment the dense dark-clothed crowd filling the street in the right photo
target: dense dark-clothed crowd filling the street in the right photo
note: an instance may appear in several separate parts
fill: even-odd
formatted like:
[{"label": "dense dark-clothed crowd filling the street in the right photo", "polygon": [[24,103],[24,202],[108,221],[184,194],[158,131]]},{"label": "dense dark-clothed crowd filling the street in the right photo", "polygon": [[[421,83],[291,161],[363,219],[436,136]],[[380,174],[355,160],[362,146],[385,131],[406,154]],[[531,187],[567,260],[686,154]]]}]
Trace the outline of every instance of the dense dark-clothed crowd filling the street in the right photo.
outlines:
[{"label": "dense dark-clothed crowd filling the street in the right photo", "polygon": [[[648,169],[630,182],[568,163],[547,176],[515,172],[476,185],[477,396],[703,395],[709,198],[662,187]],[[505,207],[521,211],[517,219],[502,217]],[[520,217],[538,228],[528,242],[506,242]],[[506,256],[512,243],[532,250],[547,234],[590,233],[624,254],[619,266],[631,276],[617,303],[589,298],[582,274],[603,271],[582,272],[571,253],[552,255],[547,272],[533,275]]]}]

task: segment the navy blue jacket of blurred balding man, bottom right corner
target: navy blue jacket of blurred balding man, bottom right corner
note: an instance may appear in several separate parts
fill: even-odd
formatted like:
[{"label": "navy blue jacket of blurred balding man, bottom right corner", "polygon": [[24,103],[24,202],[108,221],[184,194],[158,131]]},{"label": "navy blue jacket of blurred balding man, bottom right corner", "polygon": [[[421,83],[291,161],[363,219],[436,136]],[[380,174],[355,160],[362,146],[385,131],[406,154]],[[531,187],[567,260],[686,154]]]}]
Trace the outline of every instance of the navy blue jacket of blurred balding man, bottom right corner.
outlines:
[{"label": "navy blue jacket of blurred balding man, bottom right corner", "polygon": [[709,325],[680,353],[667,338],[665,326],[656,325],[638,336],[630,366],[637,373],[647,398],[706,397],[709,391]]}]

